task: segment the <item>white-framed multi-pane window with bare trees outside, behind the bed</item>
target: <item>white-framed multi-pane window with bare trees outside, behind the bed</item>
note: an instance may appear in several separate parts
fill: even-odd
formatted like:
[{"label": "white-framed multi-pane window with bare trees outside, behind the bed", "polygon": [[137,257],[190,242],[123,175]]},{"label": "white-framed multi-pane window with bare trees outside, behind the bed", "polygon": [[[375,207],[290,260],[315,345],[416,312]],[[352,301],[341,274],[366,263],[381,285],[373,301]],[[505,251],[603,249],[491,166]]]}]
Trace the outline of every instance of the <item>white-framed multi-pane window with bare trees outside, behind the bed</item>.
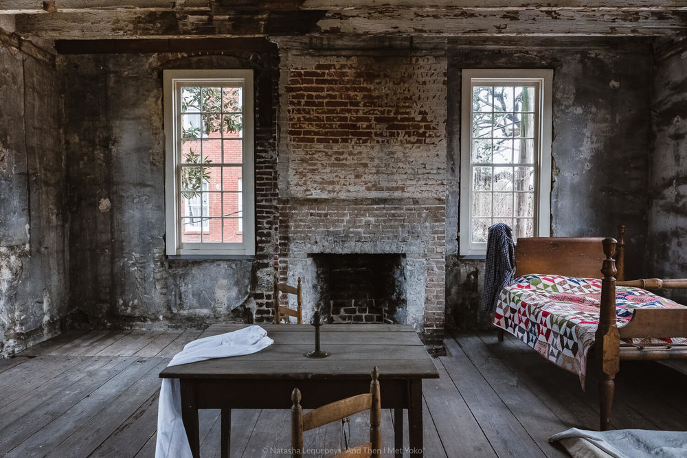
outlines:
[{"label": "white-framed multi-pane window with bare trees outside, behind the bed", "polygon": [[549,236],[552,70],[463,70],[460,254],[486,254],[488,228]]}]

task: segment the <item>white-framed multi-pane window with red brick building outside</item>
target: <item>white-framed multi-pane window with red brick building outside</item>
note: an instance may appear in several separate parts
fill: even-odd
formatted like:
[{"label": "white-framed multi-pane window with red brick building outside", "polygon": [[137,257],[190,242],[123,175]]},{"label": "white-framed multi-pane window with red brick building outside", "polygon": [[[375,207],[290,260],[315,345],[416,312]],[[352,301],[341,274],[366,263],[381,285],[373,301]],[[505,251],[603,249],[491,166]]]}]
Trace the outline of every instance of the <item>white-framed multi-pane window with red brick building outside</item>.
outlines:
[{"label": "white-framed multi-pane window with red brick building outside", "polygon": [[254,255],[253,72],[166,70],[164,108],[167,254]]}]

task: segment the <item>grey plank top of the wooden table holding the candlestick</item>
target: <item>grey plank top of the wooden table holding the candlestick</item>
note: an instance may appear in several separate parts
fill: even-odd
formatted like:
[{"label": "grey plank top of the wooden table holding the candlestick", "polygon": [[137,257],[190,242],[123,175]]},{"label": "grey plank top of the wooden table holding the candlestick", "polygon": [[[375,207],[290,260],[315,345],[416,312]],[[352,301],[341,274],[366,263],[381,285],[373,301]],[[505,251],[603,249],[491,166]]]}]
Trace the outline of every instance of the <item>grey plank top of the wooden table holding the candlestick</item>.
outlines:
[{"label": "grey plank top of the wooden table holding the candlestick", "polygon": [[[247,325],[217,324],[202,337],[223,334]],[[385,324],[322,325],[322,359],[306,358],[315,348],[315,328],[303,324],[261,325],[274,343],[243,356],[215,358],[166,367],[161,378],[217,379],[353,379],[370,378],[372,367],[380,379],[438,378],[425,346],[412,327]]]}]

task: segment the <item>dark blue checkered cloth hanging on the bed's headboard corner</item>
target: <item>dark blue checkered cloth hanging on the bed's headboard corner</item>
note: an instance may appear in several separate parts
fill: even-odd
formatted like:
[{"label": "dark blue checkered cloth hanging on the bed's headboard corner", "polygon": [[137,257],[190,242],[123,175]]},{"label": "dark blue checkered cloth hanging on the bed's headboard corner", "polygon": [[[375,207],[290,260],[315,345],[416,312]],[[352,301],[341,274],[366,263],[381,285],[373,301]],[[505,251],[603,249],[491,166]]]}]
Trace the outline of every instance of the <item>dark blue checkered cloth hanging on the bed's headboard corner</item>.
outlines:
[{"label": "dark blue checkered cloth hanging on the bed's headboard corner", "polygon": [[486,266],[484,268],[484,294],[482,310],[493,312],[501,290],[513,284],[515,273],[515,244],[513,229],[503,222],[489,228],[486,240]]}]

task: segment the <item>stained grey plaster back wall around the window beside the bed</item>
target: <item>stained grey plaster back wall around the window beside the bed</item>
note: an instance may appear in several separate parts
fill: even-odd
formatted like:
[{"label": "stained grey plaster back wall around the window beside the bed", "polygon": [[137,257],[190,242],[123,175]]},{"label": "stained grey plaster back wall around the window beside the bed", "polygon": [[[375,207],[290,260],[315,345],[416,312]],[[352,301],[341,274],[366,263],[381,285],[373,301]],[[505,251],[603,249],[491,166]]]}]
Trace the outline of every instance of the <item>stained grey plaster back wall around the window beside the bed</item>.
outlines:
[{"label": "stained grey plaster back wall around the window beside the bed", "polygon": [[461,69],[554,69],[551,236],[616,237],[624,223],[627,275],[639,275],[646,262],[651,41],[514,38],[482,46],[449,45],[449,328],[491,325],[481,311],[484,261],[458,256]]}]

